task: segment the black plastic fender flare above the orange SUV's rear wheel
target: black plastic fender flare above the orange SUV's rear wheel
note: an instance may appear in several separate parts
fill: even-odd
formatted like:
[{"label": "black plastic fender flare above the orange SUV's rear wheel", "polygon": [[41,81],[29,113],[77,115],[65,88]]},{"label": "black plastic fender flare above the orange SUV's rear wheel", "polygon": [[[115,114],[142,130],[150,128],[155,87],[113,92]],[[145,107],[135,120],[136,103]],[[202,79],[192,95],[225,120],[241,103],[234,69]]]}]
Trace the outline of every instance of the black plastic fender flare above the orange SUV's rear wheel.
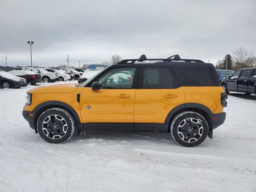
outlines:
[{"label": "black plastic fender flare above the orange SUV's rear wheel", "polygon": [[182,110],[184,108],[198,108],[198,109],[201,109],[203,111],[205,111],[207,114],[212,114],[212,110],[210,110],[210,108],[202,105],[202,104],[199,104],[199,103],[184,103],[184,104],[180,104],[176,107],[174,107],[169,113],[168,115],[166,116],[166,119],[164,121],[165,124],[169,124],[170,121],[171,121],[171,118],[172,116],[178,112],[179,110]]}]

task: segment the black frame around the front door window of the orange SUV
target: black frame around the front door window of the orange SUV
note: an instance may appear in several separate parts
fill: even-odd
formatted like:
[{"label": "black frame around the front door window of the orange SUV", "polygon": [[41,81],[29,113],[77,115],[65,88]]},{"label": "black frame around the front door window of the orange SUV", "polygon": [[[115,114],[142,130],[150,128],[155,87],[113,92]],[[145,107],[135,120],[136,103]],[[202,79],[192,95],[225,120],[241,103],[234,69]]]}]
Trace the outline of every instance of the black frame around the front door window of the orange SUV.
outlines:
[{"label": "black frame around the front door window of the orange SUV", "polygon": [[[94,79],[91,80],[91,82],[85,86],[85,87],[91,87],[92,83],[95,81],[98,81],[99,78],[101,78],[102,76],[104,76],[106,73],[108,73],[111,70],[115,70],[115,69],[122,69],[122,68],[135,68],[135,74],[134,74],[134,80],[132,82],[132,88],[121,88],[121,89],[108,89],[108,90],[125,90],[125,89],[136,89],[137,88],[137,84],[138,84],[138,74],[139,74],[139,68],[138,67],[132,67],[132,66],[123,66],[123,67],[113,67],[113,68],[109,68],[108,70],[105,70],[103,73],[99,73]],[[105,89],[101,89],[101,90],[105,90]]]}]

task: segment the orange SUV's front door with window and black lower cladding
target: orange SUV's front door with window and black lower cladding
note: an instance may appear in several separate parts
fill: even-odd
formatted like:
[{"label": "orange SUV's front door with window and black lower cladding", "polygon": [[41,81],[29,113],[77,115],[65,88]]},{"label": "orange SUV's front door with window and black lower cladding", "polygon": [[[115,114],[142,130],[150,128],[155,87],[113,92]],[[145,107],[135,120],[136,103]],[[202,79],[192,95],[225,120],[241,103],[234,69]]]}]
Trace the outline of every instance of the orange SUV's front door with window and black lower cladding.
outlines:
[{"label": "orange SUV's front door with window and black lower cladding", "polygon": [[114,68],[95,80],[100,83],[100,90],[86,87],[80,92],[85,129],[92,123],[102,123],[98,130],[111,130],[116,123],[120,130],[133,130],[135,74],[136,68]]}]

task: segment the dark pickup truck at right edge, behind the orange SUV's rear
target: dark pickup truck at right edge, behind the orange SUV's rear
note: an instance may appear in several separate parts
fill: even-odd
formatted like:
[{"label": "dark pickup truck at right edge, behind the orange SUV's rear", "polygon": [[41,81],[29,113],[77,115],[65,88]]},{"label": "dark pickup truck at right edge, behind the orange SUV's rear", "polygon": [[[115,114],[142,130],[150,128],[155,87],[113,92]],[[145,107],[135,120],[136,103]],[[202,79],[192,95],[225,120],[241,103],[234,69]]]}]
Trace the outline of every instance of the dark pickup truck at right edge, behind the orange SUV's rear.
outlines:
[{"label": "dark pickup truck at right edge, behind the orange SUV's rear", "polygon": [[226,93],[229,91],[244,92],[251,94],[256,91],[256,68],[245,68],[234,72],[233,74],[226,75],[222,79],[222,88]]}]

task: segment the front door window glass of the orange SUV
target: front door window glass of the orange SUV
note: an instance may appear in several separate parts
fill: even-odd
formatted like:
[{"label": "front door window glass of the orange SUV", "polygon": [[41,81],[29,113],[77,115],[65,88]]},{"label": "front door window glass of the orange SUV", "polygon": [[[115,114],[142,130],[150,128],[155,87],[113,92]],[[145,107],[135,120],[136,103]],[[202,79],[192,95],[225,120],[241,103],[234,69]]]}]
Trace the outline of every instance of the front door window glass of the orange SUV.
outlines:
[{"label": "front door window glass of the orange SUV", "polygon": [[136,68],[116,68],[110,70],[98,80],[104,89],[132,88]]}]

